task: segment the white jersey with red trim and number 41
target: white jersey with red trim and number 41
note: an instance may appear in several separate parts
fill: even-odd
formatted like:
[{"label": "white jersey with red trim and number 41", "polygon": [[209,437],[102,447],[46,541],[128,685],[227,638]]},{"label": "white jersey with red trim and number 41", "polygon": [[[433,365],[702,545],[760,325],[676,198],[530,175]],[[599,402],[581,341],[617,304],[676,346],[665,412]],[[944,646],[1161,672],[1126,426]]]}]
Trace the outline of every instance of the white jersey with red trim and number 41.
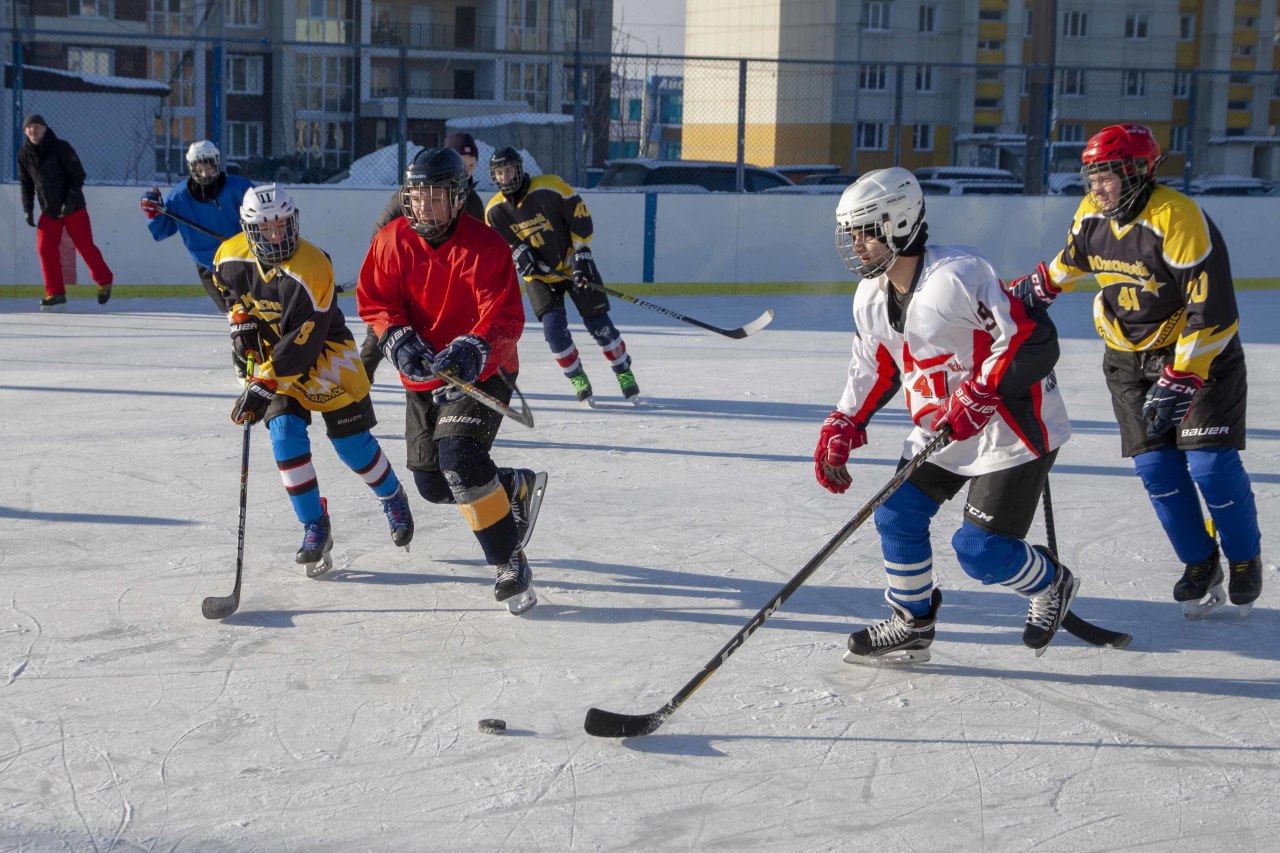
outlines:
[{"label": "white jersey with red trim and number 41", "polygon": [[901,332],[890,316],[891,287],[887,275],[858,286],[841,411],[867,424],[901,387],[915,423],[902,450],[911,457],[932,437],[938,405],[974,377],[1001,393],[997,414],[980,434],[947,444],[931,462],[977,476],[1029,462],[1068,439],[1071,425],[1052,370],[1057,333],[1046,315],[1032,316],[1009,296],[978,250],[925,248]]}]

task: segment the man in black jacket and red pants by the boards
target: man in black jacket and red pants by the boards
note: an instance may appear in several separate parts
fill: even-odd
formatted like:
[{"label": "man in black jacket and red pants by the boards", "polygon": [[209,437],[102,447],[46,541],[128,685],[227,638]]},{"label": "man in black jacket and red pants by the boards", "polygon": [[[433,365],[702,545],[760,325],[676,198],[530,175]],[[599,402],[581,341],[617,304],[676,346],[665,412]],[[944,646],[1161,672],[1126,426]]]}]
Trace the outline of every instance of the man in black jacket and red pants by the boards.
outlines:
[{"label": "man in black jacket and red pants by the boards", "polygon": [[[22,181],[22,209],[27,224],[36,228],[36,251],[45,274],[45,298],[41,311],[67,310],[67,286],[58,246],[67,229],[76,251],[88,265],[97,283],[97,304],[111,298],[111,268],[93,245],[93,229],[84,207],[84,167],[76,149],[49,129],[44,117],[32,113],[22,123],[27,143],[18,152],[18,177]],[[36,224],[35,201],[40,200],[40,224]]]}]

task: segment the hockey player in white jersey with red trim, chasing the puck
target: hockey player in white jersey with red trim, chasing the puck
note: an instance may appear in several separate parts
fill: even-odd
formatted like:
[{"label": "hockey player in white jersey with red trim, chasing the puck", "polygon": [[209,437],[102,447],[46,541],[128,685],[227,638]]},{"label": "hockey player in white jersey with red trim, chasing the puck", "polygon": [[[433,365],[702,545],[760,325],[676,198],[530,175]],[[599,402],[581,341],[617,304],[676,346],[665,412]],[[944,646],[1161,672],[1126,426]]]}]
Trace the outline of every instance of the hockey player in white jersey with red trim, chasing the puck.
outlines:
[{"label": "hockey player in white jersey with red trim, chasing the puck", "polygon": [[846,661],[929,660],[942,593],[933,584],[929,523],[969,485],[951,544],[964,571],[1029,598],[1023,642],[1039,656],[1079,580],[1047,548],[1024,540],[1070,424],[1053,378],[1057,333],[1011,298],[977,250],[927,246],[924,196],[906,169],[870,172],[836,207],[836,247],[861,277],[844,394],[823,421],[818,482],[844,493],[850,451],[899,388],[915,424],[902,456],[945,425],[937,451],[876,511],[891,616],[849,638]]}]

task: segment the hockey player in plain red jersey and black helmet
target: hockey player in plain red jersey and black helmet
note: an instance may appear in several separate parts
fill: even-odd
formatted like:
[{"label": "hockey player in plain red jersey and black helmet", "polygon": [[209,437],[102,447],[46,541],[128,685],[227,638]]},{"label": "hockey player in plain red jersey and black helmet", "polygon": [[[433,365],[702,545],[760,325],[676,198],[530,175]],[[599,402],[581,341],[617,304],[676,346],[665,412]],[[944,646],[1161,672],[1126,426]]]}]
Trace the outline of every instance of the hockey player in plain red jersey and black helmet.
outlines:
[{"label": "hockey player in plain red jersey and black helmet", "polygon": [[452,149],[420,151],[404,174],[404,215],[374,237],[360,268],[360,316],[404,384],[404,444],[419,493],[457,503],[513,613],[536,603],[522,540],[544,474],[490,457],[502,416],[444,383],[449,371],[502,402],[520,371],[525,306],[502,238],[462,213],[466,167]]}]

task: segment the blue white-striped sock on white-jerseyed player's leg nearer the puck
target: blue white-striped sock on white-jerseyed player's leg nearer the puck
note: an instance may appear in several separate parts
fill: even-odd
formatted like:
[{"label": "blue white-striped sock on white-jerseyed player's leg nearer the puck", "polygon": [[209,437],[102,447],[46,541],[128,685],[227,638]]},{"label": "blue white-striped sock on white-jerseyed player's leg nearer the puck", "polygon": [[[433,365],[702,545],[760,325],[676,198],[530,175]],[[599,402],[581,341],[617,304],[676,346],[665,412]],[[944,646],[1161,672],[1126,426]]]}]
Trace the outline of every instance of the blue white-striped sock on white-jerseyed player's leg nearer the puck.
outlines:
[{"label": "blue white-striped sock on white-jerseyed player's leg nearer the puck", "polygon": [[876,530],[888,578],[884,597],[916,616],[929,612],[929,596],[933,594],[929,520],[937,511],[938,503],[910,483],[876,510]]}]

